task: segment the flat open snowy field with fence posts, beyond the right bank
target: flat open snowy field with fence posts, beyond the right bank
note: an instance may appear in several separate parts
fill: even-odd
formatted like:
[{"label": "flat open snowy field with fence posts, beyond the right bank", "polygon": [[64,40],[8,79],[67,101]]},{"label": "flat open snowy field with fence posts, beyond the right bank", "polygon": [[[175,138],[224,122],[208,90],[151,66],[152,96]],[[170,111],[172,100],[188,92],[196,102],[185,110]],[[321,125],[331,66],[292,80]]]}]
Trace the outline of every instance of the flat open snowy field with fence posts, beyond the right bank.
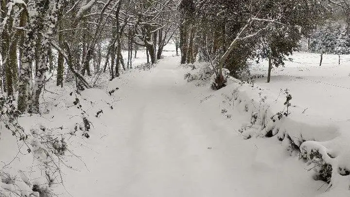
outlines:
[{"label": "flat open snowy field with fence posts, beyond the right bank", "polygon": [[285,67],[272,70],[271,82],[266,83],[268,62],[254,64],[252,74],[263,74],[256,79],[256,85],[268,89],[275,95],[289,89],[292,104],[310,116],[322,116],[334,122],[350,121],[350,55],[295,53],[285,61]]}]

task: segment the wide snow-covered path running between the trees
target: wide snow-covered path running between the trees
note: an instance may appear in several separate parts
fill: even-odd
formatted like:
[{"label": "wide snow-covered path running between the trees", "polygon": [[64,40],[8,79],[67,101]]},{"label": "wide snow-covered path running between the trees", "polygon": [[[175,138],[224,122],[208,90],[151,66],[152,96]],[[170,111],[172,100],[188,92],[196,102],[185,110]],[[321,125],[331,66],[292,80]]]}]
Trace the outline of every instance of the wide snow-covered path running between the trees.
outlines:
[{"label": "wide snow-covered path running between the trees", "polygon": [[[276,139],[243,140],[242,116],[220,114],[220,96],[183,79],[176,57],[125,74],[108,132],[90,144],[88,170],[70,172],[74,197],[312,197],[304,164]],[[202,93],[202,95],[201,95]],[[78,181],[76,180],[78,179]]]}]

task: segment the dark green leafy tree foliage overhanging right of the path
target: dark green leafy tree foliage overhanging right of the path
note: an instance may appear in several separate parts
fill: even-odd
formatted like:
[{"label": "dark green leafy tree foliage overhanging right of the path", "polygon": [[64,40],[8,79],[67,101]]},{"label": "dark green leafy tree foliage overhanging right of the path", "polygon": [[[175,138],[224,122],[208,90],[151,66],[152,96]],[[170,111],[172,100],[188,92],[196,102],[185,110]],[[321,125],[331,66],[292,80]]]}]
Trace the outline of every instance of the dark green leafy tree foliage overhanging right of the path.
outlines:
[{"label": "dark green leafy tree foliage overhanging right of the path", "polygon": [[[191,1],[191,0],[186,0]],[[238,77],[249,66],[272,57],[273,64],[284,65],[285,56],[298,47],[301,36],[315,29],[315,24],[329,16],[331,7],[320,0],[193,0],[195,18],[201,35],[200,48],[207,61],[217,60],[247,24],[244,36],[224,63],[231,75]]]}]

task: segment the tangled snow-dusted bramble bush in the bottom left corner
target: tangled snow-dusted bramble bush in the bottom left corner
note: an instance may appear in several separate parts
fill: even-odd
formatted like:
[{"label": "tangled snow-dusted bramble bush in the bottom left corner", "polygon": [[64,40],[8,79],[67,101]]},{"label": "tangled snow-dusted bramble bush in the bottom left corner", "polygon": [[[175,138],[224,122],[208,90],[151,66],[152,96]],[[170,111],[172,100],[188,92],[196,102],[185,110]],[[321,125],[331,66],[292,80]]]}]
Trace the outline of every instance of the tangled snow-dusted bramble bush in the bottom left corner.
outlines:
[{"label": "tangled snow-dusted bramble bush in the bottom left corner", "polygon": [[[35,180],[29,179],[23,171],[16,172],[6,168],[11,164],[10,162],[0,170],[0,196],[51,196],[50,187],[60,181],[56,179],[59,179],[61,173],[59,162],[62,162],[62,157],[68,150],[65,135],[59,132],[62,129],[49,129],[45,125],[32,129],[26,128],[19,121],[21,113],[12,96],[1,95],[0,107],[0,124],[6,128],[3,132],[10,132],[17,139],[18,154],[33,155],[33,166],[36,166],[36,170],[32,169],[31,174],[37,174],[40,177]],[[16,159],[18,156],[14,157]]]}]

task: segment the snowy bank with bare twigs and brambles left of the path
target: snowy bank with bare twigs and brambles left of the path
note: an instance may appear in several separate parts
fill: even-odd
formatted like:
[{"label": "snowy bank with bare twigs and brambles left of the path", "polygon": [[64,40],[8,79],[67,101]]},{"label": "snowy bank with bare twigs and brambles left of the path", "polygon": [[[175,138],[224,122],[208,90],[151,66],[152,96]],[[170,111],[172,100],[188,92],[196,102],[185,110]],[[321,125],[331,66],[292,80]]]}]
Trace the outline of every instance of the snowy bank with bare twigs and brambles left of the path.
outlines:
[{"label": "snowy bank with bare twigs and brambles left of the path", "polygon": [[[104,113],[113,111],[116,89],[64,89],[48,82],[41,98],[42,114],[21,114],[11,122],[15,107],[2,96],[0,118],[0,196],[55,196],[64,190],[64,176],[82,167],[77,147],[100,140],[106,130]],[[51,84],[52,83],[52,84]],[[102,117],[101,117],[102,116]],[[10,118],[9,118],[10,117]],[[84,166],[84,165],[83,165]]]}]

